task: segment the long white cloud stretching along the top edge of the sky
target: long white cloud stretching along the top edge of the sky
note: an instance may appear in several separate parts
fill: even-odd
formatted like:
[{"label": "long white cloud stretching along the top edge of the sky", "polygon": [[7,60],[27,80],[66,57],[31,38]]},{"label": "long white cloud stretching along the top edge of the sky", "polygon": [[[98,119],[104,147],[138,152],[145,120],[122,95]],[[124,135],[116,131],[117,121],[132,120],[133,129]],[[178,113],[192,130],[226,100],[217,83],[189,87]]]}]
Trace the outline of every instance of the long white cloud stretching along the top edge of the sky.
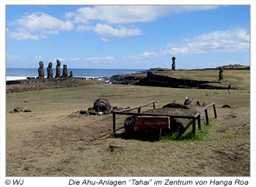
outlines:
[{"label": "long white cloud stretching along the top edge of the sky", "polygon": [[152,22],[171,13],[206,11],[219,8],[217,5],[97,5],[65,12],[67,19],[88,24],[100,20],[109,24]]}]

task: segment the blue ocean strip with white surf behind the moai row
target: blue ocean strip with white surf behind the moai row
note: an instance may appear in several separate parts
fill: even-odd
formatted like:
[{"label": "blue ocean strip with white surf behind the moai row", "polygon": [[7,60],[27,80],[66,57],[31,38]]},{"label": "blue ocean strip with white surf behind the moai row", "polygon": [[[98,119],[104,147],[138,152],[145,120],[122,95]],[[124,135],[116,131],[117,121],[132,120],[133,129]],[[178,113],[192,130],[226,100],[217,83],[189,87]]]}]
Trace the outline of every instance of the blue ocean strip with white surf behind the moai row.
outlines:
[{"label": "blue ocean strip with white surf behind the moai row", "polygon": [[[44,76],[47,76],[47,69],[44,70]],[[101,78],[109,77],[113,75],[121,74],[131,74],[138,73],[143,70],[133,70],[133,69],[74,69],[68,68],[68,76],[70,71],[73,71],[74,77],[85,77],[85,78]],[[56,70],[53,68],[54,76]],[[61,69],[62,74],[62,69]],[[6,80],[23,80],[26,77],[36,77],[38,76],[37,68],[6,68]]]}]

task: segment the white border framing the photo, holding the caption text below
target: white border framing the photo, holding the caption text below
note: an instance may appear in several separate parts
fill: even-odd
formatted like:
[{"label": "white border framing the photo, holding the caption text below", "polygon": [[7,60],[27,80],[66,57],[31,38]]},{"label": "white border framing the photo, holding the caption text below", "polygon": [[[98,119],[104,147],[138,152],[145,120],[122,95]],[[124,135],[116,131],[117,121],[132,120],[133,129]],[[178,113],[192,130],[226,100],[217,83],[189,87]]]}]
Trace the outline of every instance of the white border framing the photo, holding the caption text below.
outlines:
[{"label": "white border framing the photo, holding the caption text below", "polygon": [[[1,1],[1,0],[0,0]],[[6,179],[25,179],[25,183],[22,186],[70,186],[68,185],[69,179],[76,179],[82,181],[84,179],[92,179],[98,180],[99,178],[88,178],[88,177],[5,177],[5,5],[251,5],[251,177],[190,177],[187,180],[207,180],[210,179],[217,179],[217,180],[232,180],[241,179],[241,180],[248,180],[249,185],[246,186],[254,186],[256,173],[255,173],[255,51],[256,51],[256,38],[255,38],[255,23],[256,23],[256,4],[254,0],[250,1],[240,1],[240,0],[233,0],[233,1],[166,1],[166,0],[158,0],[158,1],[120,1],[120,0],[87,0],[87,1],[1,1],[0,4],[0,77],[1,77],[1,150],[0,150],[0,158],[1,158],[1,170],[0,170],[0,186],[5,186]],[[238,12],[239,14],[239,12]],[[118,178],[108,178],[108,177],[101,177],[100,179],[112,179],[112,180],[126,180],[126,185],[131,184],[129,183],[129,179],[141,179],[138,177],[118,177]],[[147,179],[157,179],[163,180],[170,179],[168,177],[144,177],[144,180]],[[185,180],[185,178],[171,178],[171,180]],[[148,186],[148,185],[147,185]],[[151,185],[150,185],[151,186]],[[195,185],[192,185],[195,186]],[[208,185],[207,185],[208,186]],[[212,186],[212,185],[210,185]],[[221,185],[223,186],[223,185]],[[230,185],[228,185],[230,186]],[[238,185],[236,185],[238,186]]]}]

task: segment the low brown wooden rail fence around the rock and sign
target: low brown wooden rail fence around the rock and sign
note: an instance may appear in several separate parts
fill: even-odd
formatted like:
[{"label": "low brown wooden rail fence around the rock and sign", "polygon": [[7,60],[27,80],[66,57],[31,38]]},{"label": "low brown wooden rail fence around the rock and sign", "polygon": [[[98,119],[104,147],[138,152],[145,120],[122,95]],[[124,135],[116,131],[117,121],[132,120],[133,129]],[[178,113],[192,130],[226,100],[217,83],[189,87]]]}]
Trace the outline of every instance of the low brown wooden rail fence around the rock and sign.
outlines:
[{"label": "low brown wooden rail fence around the rock and sign", "polygon": [[[196,120],[198,121],[199,130],[201,130],[201,114],[203,112],[205,112],[205,115],[206,115],[206,124],[209,124],[209,117],[208,117],[208,110],[207,110],[209,107],[213,106],[214,117],[217,117],[215,103],[208,104],[206,107],[202,108],[202,110],[200,110],[198,113],[196,113],[193,116],[140,113],[140,109],[142,107],[146,107],[146,106],[148,106],[150,104],[153,104],[153,108],[155,109],[154,100],[152,100],[149,103],[140,105],[138,107],[126,108],[126,109],[123,109],[123,110],[113,110],[112,111],[113,133],[116,134],[116,115],[117,114],[120,114],[120,115],[133,115],[133,116],[151,116],[151,117],[152,116],[159,116],[159,117],[162,116],[162,117],[169,117],[170,121],[171,121],[171,119],[174,119],[174,118],[192,119],[192,122],[189,123],[185,127],[185,130],[187,130],[190,127],[190,125],[192,124],[192,133],[194,135],[195,135],[195,122],[196,122]],[[135,113],[135,112],[128,112],[130,110],[137,110],[137,113]]]}]

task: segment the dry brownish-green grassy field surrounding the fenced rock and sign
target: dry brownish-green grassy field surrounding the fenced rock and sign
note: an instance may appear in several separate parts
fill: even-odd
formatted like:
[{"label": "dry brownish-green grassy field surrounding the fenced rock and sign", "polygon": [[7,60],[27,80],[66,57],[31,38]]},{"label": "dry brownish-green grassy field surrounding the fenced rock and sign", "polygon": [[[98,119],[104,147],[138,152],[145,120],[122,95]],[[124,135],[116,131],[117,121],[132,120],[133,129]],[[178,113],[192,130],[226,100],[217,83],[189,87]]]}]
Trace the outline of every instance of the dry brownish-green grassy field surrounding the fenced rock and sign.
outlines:
[{"label": "dry brownish-green grassy field surrounding the fenced rock and sign", "polygon": [[[249,176],[250,75],[247,71],[228,78],[225,72],[227,81],[247,86],[231,93],[118,84],[7,93],[6,175]],[[108,99],[113,107],[135,107],[150,100],[159,100],[156,107],[162,107],[173,100],[183,104],[185,97],[194,97],[207,104],[215,102],[218,117],[214,118],[210,109],[210,125],[203,123],[195,138],[166,137],[155,142],[109,135],[99,138],[111,134],[112,115],[75,113],[92,107],[99,97]],[[231,108],[223,108],[224,104]],[[32,112],[9,113],[17,106]],[[116,128],[123,127],[125,118],[117,116]],[[92,141],[95,138],[99,139]],[[116,145],[122,148],[109,149]]]}]

